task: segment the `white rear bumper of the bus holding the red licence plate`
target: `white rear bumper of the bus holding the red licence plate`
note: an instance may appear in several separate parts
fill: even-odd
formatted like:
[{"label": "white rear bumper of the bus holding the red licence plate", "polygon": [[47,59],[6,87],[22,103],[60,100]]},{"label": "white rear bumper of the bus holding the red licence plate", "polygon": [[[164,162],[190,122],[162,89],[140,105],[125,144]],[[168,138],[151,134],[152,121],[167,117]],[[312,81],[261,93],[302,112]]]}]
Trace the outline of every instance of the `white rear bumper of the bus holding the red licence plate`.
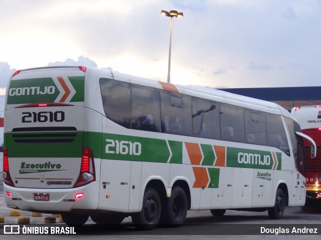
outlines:
[{"label": "white rear bumper of the bus holding the red licence plate", "polygon": [[60,189],[17,188],[4,185],[6,204],[21,210],[54,213],[98,208],[98,181],[77,188]]}]

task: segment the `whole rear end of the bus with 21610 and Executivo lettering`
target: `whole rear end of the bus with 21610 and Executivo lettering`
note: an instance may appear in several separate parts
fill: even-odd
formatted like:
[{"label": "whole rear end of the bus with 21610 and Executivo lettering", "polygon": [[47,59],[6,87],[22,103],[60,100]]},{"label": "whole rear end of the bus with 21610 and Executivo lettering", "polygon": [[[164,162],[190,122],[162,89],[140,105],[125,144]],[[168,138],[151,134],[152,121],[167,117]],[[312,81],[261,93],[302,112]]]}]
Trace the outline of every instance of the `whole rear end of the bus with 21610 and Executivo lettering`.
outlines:
[{"label": "whole rear end of the bus with 21610 and Executivo lettering", "polygon": [[83,143],[84,82],[80,67],[15,72],[5,109],[7,205],[52,212],[60,202],[60,211],[97,207],[97,199],[82,197],[97,187],[93,155]]}]

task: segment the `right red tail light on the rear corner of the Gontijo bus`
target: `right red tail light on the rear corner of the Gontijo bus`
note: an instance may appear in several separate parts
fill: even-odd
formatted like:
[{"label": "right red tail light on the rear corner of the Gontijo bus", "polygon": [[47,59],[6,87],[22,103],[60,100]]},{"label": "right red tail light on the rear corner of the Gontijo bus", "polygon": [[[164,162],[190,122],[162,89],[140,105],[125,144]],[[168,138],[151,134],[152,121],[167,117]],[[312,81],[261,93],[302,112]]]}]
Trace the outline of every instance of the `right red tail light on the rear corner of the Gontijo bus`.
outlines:
[{"label": "right red tail light on the rear corner of the Gontijo bus", "polygon": [[95,164],[92,150],[84,147],[82,150],[80,173],[74,187],[86,185],[95,179]]}]

